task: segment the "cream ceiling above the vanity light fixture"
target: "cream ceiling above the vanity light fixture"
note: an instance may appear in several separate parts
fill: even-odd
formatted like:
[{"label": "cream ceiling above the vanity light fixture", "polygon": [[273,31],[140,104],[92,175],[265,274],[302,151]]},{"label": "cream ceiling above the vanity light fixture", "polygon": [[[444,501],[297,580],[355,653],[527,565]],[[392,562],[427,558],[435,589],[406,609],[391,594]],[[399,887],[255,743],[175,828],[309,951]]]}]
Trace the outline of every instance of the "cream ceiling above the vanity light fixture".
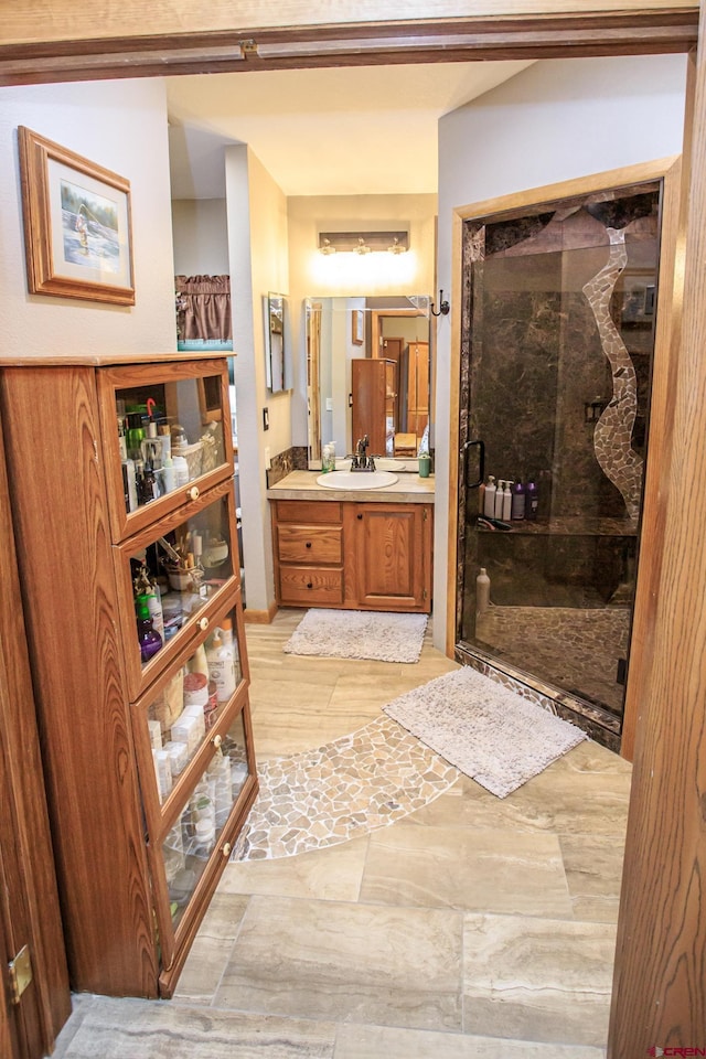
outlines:
[{"label": "cream ceiling above the vanity light fixture", "polygon": [[435,194],[439,118],[530,65],[168,77],[172,197],[224,197],[223,148],[229,143],[248,143],[288,196]]}]

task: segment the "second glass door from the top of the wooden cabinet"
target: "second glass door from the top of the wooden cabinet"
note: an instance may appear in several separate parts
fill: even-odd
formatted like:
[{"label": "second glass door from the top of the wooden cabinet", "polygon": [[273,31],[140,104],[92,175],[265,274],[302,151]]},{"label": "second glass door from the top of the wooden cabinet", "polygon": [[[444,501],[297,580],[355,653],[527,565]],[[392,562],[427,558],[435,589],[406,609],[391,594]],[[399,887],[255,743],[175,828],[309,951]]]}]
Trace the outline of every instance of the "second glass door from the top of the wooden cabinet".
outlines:
[{"label": "second glass door from the top of the wooden cabinet", "polygon": [[208,628],[224,590],[239,584],[232,482],[116,549],[130,695],[137,698]]}]

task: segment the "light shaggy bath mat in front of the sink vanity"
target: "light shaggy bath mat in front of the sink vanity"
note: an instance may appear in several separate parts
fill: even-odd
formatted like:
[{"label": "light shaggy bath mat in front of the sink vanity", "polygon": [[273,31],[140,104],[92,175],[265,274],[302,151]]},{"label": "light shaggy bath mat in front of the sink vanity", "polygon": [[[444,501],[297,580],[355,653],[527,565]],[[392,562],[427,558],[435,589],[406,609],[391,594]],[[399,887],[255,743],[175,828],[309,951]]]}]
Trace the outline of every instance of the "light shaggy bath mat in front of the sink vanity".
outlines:
[{"label": "light shaggy bath mat in front of the sink vanity", "polygon": [[284,650],[327,659],[418,662],[426,628],[426,614],[314,609],[307,611]]}]

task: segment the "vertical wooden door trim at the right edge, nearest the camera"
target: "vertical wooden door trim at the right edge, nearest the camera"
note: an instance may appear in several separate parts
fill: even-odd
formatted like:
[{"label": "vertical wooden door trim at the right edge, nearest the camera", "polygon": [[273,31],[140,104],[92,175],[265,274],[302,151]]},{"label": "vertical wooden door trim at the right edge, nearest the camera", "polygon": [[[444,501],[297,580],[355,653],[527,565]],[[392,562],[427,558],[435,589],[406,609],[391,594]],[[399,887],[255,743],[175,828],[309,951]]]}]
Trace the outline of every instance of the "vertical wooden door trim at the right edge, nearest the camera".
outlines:
[{"label": "vertical wooden door trim at the right edge, nearest the camera", "polygon": [[[672,451],[662,468],[657,512],[664,556],[635,738],[609,1059],[643,1056],[655,1046],[673,1046],[674,1055],[706,1047],[705,111],[706,61],[699,47],[695,76],[687,82],[684,311],[681,333],[677,325],[674,334]],[[677,271],[683,250],[680,246]]]}]

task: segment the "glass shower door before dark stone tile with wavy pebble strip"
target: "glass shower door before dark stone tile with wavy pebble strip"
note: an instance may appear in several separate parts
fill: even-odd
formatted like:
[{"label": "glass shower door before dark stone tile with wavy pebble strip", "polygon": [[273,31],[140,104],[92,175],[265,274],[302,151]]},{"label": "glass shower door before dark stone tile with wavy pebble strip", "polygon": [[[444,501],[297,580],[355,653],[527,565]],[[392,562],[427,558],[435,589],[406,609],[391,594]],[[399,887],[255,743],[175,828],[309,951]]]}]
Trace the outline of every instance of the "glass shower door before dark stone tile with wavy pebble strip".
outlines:
[{"label": "glass shower door before dark stone tile with wavy pebble strip", "polygon": [[[466,223],[457,649],[593,718],[623,707],[660,190]],[[515,517],[474,488],[478,440]]]}]

